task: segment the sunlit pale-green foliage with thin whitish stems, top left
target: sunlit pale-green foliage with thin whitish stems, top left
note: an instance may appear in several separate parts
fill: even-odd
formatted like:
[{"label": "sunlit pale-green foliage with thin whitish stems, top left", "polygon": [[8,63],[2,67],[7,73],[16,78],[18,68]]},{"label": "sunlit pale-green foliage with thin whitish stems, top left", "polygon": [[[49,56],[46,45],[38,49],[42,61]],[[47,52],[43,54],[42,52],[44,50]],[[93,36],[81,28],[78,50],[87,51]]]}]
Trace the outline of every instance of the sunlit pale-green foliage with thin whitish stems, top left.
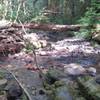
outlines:
[{"label": "sunlit pale-green foliage with thin whitish stems, top left", "polygon": [[0,19],[21,22],[48,22],[41,9],[45,0],[2,0],[0,1]]}]

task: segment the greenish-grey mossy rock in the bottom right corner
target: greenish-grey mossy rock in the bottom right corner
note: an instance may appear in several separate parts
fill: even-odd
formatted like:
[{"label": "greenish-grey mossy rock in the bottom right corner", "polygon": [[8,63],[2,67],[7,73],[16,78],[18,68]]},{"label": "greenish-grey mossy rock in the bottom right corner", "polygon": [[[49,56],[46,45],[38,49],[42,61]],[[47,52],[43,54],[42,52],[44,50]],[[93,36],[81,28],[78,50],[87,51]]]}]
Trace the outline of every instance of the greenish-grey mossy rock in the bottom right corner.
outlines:
[{"label": "greenish-grey mossy rock in the bottom right corner", "polygon": [[100,85],[90,76],[79,77],[78,85],[86,100],[100,100]]}]

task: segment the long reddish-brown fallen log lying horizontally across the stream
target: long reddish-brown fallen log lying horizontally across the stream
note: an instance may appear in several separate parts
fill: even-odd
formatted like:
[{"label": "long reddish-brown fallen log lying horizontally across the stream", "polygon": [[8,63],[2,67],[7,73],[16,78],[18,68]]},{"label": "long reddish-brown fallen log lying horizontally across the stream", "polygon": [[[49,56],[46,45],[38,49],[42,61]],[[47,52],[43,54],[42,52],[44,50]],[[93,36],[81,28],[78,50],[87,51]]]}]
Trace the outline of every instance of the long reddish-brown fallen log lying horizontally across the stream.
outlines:
[{"label": "long reddish-brown fallen log lying horizontally across the stream", "polygon": [[37,29],[37,30],[44,30],[44,31],[78,31],[82,25],[56,25],[56,24],[39,24],[39,23],[30,23],[30,24],[12,24],[14,28],[29,28],[29,29]]}]

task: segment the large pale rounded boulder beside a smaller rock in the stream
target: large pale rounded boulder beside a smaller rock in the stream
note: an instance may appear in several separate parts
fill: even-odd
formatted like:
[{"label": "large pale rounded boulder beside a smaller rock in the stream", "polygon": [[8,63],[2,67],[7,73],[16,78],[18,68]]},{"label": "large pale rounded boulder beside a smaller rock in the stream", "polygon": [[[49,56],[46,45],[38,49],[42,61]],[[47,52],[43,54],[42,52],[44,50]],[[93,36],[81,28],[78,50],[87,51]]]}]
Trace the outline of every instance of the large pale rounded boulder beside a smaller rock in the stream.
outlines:
[{"label": "large pale rounded boulder beside a smaller rock in the stream", "polygon": [[68,75],[83,75],[85,74],[85,68],[83,68],[81,65],[71,63],[64,66],[64,72]]}]

